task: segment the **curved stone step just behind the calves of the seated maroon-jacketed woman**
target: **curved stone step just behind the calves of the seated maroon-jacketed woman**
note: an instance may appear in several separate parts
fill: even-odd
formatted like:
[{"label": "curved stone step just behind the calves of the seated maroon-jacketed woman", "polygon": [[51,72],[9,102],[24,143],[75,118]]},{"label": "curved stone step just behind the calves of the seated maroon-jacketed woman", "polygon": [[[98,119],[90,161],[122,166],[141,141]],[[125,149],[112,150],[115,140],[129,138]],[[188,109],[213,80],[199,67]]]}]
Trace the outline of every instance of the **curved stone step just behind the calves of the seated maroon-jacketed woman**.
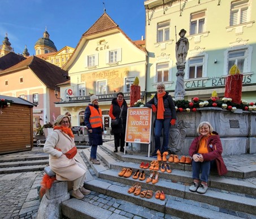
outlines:
[{"label": "curved stone step just behind the calves of the seated maroon-jacketed woman", "polygon": [[[121,171],[123,168],[132,168],[133,174],[139,170],[140,172],[143,170],[146,173],[146,178],[150,175],[149,169],[140,169],[140,164],[133,162],[116,162],[116,160],[112,159],[110,155],[106,154],[101,148],[97,150],[98,157],[104,158],[105,163],[111,169],[116,169]],[[139,159],[139,158],[138,158]],[[94,171],[97,171],[95,169]],[[182,183],[185,185],[190,185],[193,181],[192,179],[192,171],[182,171],[180,169],[172,169],[172,173],[167,172],[159,172],[159,178],[161,180],[167,180],[176,183]],[[209,179],[209,187],[212,189],[225,190],[233,193],[242,193],[250,196],[256,196],[256,185],[247,180],[241,180],[233,177],[220,177],[217,175],[211,175]]]}]

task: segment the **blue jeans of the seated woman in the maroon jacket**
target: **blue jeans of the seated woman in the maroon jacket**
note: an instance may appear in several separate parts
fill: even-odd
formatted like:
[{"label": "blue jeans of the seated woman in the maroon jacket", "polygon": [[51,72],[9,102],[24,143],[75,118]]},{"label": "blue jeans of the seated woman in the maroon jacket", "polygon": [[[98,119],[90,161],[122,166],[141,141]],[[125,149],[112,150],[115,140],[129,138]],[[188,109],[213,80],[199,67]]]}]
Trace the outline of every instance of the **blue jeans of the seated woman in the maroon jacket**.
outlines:
[{"label": "blue jeans of the seated woman in the maroon jacket", "polygon": [[208,182],[211,167],[215,166],[215,160],[195,162],[192,159],[192,177],[193,179],[199,180],[199,174],[201,172],[201,181]]}]

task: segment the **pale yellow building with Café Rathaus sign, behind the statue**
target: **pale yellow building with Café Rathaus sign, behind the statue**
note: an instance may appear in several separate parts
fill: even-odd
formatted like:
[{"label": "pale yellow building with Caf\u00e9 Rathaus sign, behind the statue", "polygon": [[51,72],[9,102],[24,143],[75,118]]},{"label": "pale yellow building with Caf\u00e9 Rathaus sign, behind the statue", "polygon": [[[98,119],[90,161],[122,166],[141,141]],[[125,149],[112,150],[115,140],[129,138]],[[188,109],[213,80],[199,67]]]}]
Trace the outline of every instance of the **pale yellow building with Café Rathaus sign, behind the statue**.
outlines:
[{"label": "pale yellow building with Caf\u00e9 Rathaus sign, behind the statue", "polygon": [[185,99],[224,96],[225,78],[233,64],[243,77],[242,99],[256,101],[256,13],[253,0],[148,0],[146,12],[147,96],[158,82],[173,95],[176,42],[186,30]]}]

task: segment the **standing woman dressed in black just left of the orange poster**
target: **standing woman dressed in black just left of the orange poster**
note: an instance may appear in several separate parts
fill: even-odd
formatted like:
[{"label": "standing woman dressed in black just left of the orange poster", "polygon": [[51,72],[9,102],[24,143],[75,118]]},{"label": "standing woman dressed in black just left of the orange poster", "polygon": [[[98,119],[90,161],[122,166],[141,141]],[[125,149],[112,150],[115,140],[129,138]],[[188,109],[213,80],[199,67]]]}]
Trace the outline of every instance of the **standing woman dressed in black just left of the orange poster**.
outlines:
[{"label": "standing woman dressed in black just left of the orange poster", "polygon": [[119,119],[119,123],[116,126],[111,126],[112,134],[115,140],[115,150],[118,152],[118,147],[120,146],[120,151],[124,152],[124,138],[125,138],[125,127],[127,118],[127,103],[124,100],[124,94],[119,92],[117,97],[112,99],[110,106],[109,116],[111,119]]}]

